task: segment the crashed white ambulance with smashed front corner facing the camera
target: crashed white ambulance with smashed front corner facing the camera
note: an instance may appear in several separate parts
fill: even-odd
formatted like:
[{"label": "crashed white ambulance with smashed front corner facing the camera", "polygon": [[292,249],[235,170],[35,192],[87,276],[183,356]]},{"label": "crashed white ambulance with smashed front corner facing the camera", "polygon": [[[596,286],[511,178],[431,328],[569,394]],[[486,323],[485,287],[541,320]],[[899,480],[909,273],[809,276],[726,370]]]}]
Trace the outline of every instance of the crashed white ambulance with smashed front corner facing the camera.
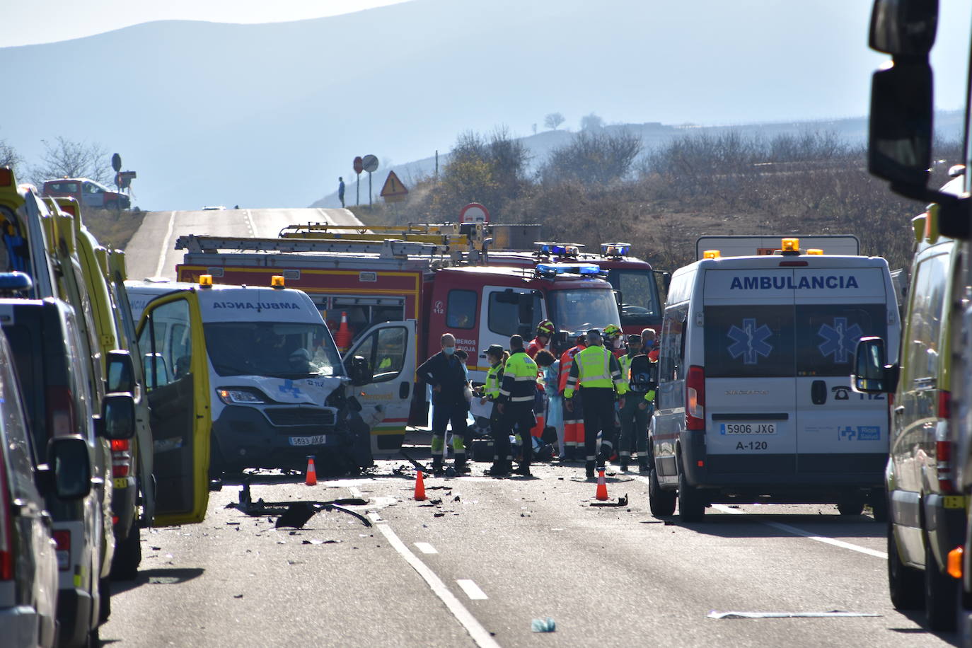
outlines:
[{"label": "crashed white ambulance with smashed front corner facing the camera", "polygon": [[[214,474],[303,469],[308,455],[316,456],[319,471],[365,467],[368,429],[345,394],[352,381],[330,331],[306,293],[277,279],[275,288],[212,285],[209,276],[199,284],[125,282],[132,312],[141,318],[150,389],[171,390],[198,367],[173,397],[207,394],[212,447],[200,446],[187,462],[205,457]],[[181,437],[156,435],[156,453],[167,442],[173,451],[183,447]]]}]

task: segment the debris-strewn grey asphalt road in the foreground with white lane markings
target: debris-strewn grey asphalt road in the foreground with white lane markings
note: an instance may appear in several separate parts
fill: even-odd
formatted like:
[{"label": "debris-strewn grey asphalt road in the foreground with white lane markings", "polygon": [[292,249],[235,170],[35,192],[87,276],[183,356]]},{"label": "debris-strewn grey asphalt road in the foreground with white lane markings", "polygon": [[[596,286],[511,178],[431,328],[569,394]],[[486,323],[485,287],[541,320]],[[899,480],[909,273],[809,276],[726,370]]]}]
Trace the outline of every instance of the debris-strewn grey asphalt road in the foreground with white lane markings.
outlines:
[{"label": "debris-strewn grey asphalt road in the foreground with white lane markings", "polygon": [[[833,506],[713,507],[681,524],[648,511],[647,485],[608,470],[620,508],[590,506],[577,466],[534,479],[426,479],[383,460],[316,487],[255,477],[254,499],[361,496],[373,521],[321,512],[304,529],[226,508],[146,531],[139,578],[116,583],[101,636],[115,646],[934,646],[887,597],[885,527]],[[396,472],[400,468],[399,472]],[[302,482],[302,480],[300,480]],[[435,500],[441,500],[436,502]],[[713,619],[712,612],[876,616]],[[553,633],[532,631],[552,618]]]}]

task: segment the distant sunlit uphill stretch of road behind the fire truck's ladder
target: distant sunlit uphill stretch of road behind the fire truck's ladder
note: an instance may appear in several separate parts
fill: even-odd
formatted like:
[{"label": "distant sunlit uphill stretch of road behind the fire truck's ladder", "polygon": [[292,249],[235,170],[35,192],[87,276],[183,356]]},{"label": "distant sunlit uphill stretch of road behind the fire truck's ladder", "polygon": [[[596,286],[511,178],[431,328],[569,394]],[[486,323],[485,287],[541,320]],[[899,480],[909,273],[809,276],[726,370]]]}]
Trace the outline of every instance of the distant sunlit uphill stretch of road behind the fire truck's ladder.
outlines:
[{"label": "distant sunlit uphill stretch of road behind the fire truck's ladder", "polygon": [[345,209],[226,209],[198,212],[148,212],[125,248],[129,279],[175,279],[185,251],[175,250],[186,234],[275,238],[283,227],[306,222],[360,224]]}]

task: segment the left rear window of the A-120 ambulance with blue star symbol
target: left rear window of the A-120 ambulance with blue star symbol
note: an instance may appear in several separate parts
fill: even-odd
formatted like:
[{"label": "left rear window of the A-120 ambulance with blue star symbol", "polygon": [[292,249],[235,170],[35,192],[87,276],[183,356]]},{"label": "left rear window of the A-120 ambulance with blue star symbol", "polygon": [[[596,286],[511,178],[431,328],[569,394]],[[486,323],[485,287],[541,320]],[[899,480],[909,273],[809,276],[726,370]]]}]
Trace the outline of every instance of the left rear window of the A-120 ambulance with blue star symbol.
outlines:
[{"label": "left rear window of the A-120 ambulance with blue star symbol", "polygon": [[707,306],[706,377],[793,376],[793,306]]}]

